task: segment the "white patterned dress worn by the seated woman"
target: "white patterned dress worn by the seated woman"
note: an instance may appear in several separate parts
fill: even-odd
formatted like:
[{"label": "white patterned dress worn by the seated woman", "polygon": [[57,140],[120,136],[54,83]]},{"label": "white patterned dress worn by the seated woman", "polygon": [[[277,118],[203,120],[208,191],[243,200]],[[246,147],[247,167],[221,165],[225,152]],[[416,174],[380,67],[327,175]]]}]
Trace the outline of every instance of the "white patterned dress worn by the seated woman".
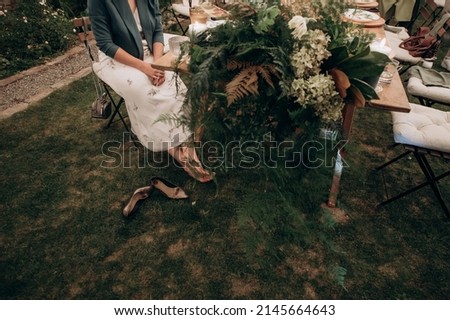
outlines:
[{"label": "white patterned dress worn by the seated woman", "polygon": [[[142,27],[138,11],[134,17],[139,31]],[[151,63],[153,56],[143,40],[144,61]],[[103,52],[99,52],[99,62],[94,71],[117,94],[125,100],[131,130],[139,141],[152,151],[164,151],[185,142],[191,133],[174,121],[164,121],[164,115],[180,115],[186,86],[173,72],[165,72],[165,82],[154,86],[143,72],[124,65]],[[176,85],[175,81],[178,81]],[[178,87],[178,88],[177,88]]]}]

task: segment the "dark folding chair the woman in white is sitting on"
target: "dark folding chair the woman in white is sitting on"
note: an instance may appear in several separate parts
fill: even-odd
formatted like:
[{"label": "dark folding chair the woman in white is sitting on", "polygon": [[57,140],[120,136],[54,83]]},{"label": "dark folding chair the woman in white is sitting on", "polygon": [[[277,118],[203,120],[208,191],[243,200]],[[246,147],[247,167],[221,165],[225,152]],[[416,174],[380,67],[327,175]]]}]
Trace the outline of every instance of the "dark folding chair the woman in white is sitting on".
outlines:
[{"label": "dark folding chair the woman in white is sitting on", "polygon": [[[94,81],[100,80],[101,86],[104,90],[104,92],[106,93],[106,95],[108,96],[108,98],[111,101],[111,104],[113,105],[113,113],[106,125],[106,128],[109,128],[111,126],[111,124],[113,123],[114,119],[116,116],[119,116],[119,120],[122,121],[125,130],[127,132],[130,132],[130,129],[128,128],[128,125],[124,119],[124,117],[122,116],[121,112],[120,112],[120,107],[123,105],[124,103],[124,99],[122,97],[118,98],[118,99],[114,99],[113,95],[111,94],[111,88],[102,80],[98,77],[98,75],[95,73],[95,64],[97,63],[97,56],[96,56],[96,50],[93,50],[93,47],[95,46],[94,42],[94,33],[92,32],[91,29],[91,21],[89,19],[89,17],[81,17],[81,18],[75,18],[72,20],[72,23],[74,25],[74,31],[75,33],[78,35],[78,39],[84,44],[85,48],[86,48],[86,52],[89,55],[89,59],[90,59],[90,63],[92,66],[92,70],[93,70],[93,75],[94,77],[96,77],[96,79]],[[117,120],[117,121],[119,121]]]}]

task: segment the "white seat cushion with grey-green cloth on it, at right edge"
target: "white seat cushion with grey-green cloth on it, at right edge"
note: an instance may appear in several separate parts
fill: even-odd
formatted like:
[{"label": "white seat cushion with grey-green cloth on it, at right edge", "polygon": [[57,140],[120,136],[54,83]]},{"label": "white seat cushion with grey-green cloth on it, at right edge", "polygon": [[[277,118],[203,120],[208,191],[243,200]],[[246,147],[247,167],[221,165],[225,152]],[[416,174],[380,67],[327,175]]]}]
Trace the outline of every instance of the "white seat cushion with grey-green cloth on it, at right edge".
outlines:
[{"label": "white seat cushion with grey-green cloth on it, at right edge", "polygon": [[427,107],[431,107],[435,103],[450,106],[450,88],[437,85],[439,81],[433,82],[432,79],[450,79],[450,73],[419,66],[412,67],[409,70],[406,91],[417,98],[420,104]]}]

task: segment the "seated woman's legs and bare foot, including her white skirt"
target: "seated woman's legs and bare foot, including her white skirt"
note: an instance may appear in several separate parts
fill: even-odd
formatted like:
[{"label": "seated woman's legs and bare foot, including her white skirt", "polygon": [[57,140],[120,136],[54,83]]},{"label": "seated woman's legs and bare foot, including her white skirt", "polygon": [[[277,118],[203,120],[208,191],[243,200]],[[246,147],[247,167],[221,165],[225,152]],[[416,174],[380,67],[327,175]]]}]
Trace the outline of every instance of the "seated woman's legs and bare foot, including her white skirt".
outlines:
[{"label": "seated woman's legs and bare foot, including her white skirt", "polygon": [[183,144],[191,133],[170,121],[160,120],[165,115],[180,113],[184,84],[181,83],[177,89],[175,80],[166,76],[165,83],[155,87],[142,72],[103,54],[97,74],[125,99],[132,130],[142,145],[154,152],[167,150],[191,177],[200,182],[214,178],[203,168],[195,149]]}]

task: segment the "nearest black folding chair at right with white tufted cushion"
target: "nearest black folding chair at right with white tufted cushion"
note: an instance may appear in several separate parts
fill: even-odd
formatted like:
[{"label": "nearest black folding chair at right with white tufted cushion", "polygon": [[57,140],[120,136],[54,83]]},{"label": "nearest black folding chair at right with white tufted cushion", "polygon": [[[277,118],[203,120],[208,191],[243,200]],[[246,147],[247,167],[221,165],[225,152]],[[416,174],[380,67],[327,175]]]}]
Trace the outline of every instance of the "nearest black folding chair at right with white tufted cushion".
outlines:
[{"label": "nearest black folding chair at right with white tufted cushion", "polygon": [[[376,170],[384,169],[412,153],[425,175],[426,181],[388,198],[379,205],[386,205],[425,186],[430,186],[444,213],[450,219],[449,208],[438,185],[441,179],[450,175],[450,170],[436,176],[427,160],[427,156],[440,157],[444,161],[450,160],[450,112],[411,104],[411,112],[392,112],[392,120],[395,145],[402,145],[405,152],[379,166]],[[385,190],[387,194],[386,183]],[[446,194],[448,195],[448,192]],[[446,199],[448,200],[448,198],[447,196]]]}]

